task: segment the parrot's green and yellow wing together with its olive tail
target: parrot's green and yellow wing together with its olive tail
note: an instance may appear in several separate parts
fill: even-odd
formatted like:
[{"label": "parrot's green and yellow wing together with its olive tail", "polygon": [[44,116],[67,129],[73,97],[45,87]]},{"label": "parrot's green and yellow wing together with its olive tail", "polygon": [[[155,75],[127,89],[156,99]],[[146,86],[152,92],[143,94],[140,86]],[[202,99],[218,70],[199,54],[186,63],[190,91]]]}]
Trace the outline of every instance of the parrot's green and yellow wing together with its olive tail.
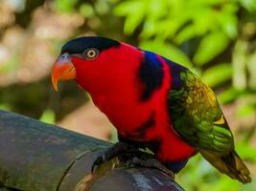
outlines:
[{"label": "parrot's green and yellow wing together with its olive tail", "polygon": [[[173,75],[174,76],[174,75]],[[175,131],[221,173],[244,183],[251,180],[234,150],[234,140],[214,92],[196,74],[175,74],[168,94],[168,109]]]}]

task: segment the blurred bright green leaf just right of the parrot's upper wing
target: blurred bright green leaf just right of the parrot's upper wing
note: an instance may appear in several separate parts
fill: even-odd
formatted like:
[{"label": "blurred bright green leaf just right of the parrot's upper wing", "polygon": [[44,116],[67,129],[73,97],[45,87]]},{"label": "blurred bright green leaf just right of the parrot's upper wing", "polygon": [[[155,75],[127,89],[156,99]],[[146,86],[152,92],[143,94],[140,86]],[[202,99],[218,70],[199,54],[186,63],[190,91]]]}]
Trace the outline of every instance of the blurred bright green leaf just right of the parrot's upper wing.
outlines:
[{"label": "blurred bright green leaf just right of the parrot's upper wing", "polygon": [[231,79],[232,65],[230,63],[217,64],[203,72],[202,80],[210,87],[216,87],[226,80]]}]

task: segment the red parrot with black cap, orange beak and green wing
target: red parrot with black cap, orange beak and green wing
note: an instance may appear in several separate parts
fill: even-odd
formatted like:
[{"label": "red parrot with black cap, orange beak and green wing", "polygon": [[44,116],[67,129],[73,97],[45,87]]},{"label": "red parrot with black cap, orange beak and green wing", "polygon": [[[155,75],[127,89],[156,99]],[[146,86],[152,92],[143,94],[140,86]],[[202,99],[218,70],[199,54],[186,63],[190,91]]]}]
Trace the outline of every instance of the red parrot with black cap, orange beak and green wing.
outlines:
[{"label": "red parrot with black cap, orange beak and green wing", "polygon": [[81,36],[62,46],[51,78],[56,91],[60,80],[75,80],[117,129],[119,142],[95,164],[131,145],[149,148],[174,173],[200,153],[230,178],[251,181],[215,93],[188,68],[125,42]]}]

